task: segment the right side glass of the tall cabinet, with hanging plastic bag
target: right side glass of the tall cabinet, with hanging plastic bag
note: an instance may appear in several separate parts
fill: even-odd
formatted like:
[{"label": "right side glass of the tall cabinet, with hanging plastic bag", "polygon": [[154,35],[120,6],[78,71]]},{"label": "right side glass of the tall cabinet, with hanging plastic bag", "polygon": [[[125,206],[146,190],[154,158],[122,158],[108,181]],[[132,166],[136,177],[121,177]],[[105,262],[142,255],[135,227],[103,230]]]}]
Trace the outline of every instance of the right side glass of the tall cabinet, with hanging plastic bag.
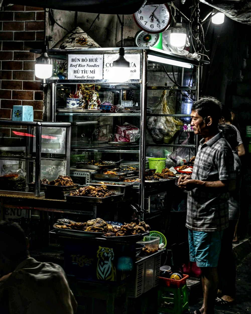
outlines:
[{"label": "right side glass of the tall cabinet, with hanging plastic bag", "polygon": [[[195,154],[196,138],[190,126],[190,112],[196,97],[196,67],[148,62],[147,108],[152,111],[147,113],[148,157],[165,157],[183,145],[188,158]],[[171,165],[175,162],[167,164]]]}]

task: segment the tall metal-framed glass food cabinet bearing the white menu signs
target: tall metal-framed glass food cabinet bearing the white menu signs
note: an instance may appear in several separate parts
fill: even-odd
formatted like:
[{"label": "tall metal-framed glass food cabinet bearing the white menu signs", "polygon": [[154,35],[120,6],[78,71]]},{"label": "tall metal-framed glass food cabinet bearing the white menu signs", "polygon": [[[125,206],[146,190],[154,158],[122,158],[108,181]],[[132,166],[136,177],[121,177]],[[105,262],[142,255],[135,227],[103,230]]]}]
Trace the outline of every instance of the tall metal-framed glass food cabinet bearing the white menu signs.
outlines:
[{"label": "tall metal-framed glass food cabinet bearing the white menu signs", "polygon": [[[82,184],[99,178],[109,181],[95,176],[102,170],[86,171],[84,163],[93,160],[112,161],[115,171],[118,163],[120,171],[136,168],[138,173],[132,177],[136,203],[139,210],[147,211],[148,158],[166,158],[165,165],[171,167],[179,165],[182,157],[167,158],[177,148],[186,148],[189,157],[196,154],[197,138],[189,122],[192,103],[199,97],[200,62],[152,47],[125,48],[130,62],[126,77],[120,68],[112,68],[118,50],[60,51],[67,58],[68,73],[65,80],[51,81],[51,116],[52,121],[71,123],[71,176]],[[77,99],[77,106],[70,98]]]}]

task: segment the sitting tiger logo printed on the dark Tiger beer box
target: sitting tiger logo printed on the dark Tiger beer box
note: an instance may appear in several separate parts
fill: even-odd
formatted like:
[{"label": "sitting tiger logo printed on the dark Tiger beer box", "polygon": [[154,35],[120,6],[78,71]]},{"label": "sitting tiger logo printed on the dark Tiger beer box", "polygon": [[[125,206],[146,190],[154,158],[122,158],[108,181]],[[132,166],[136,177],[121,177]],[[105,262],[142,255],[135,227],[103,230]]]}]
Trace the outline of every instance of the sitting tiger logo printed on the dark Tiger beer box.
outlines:
[{"label": "sitting tiger logo printed on the dark Tiger beer box", "polygon": [[116,280],[116,268],[113,266],[114,252],[109,247],[99,246],[97,251],[97,278],[101,280]]}]

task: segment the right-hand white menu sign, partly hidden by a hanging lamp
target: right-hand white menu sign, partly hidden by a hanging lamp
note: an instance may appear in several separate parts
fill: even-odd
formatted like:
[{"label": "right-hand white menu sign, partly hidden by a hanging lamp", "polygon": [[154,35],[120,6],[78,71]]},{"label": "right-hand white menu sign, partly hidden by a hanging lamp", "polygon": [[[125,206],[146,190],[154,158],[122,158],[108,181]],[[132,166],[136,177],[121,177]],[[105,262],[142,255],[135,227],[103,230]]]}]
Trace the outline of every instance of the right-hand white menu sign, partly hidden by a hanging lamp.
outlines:
[{"label": "right-hand white menu sign, partly hidden by a hanging lamp", "polygon": [[[109,70],[113,61],[117,60],[119,54],[104,55],[104,79],[110,79]],[[125,54],[125,60],[130,63],[129,79],[140,79],[140,54]]]}]

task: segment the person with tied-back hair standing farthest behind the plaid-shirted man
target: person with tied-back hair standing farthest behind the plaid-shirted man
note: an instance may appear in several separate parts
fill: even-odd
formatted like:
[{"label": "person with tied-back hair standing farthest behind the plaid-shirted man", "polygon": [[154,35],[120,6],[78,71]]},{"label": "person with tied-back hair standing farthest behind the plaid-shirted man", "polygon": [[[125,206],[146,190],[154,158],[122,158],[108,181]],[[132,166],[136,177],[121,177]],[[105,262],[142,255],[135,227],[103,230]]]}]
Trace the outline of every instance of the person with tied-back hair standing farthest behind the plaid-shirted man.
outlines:
[{"label": "person with tied-back hair standing farthest behind the plaid-shirted man", "polygon": [[241,138],[240,127],[239,127],[239,124],[238,124],[237,117],[226,106],[222,106],[221,118],[219,119],[219,123],[231,124],[236,129],[236,132],[237,132],[237,142],[238,142],[238,145],[236,146],[236,149],[237,149],[237,152],[238,152],[238,156],[239,157],[244,156],[245,155],[245,147],[243,145],[243,141],[242,141],[242,138]]}]

